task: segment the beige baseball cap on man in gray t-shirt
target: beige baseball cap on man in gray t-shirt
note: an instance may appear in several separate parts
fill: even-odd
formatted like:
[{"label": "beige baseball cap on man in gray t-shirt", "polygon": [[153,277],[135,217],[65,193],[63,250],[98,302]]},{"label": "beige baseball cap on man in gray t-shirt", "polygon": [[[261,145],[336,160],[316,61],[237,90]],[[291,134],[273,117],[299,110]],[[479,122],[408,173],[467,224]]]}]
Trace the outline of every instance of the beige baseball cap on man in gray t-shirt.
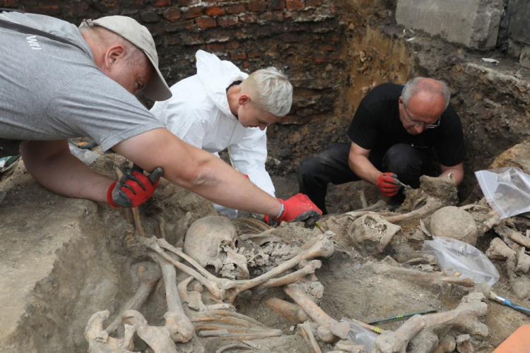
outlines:
[{"label": "beige baseball cap on man in gray t-shirt", "polygon": [[153,36],[151,36],[151,33],[145,26],[136,22],[134,18],[127,16],[105,16],[98,18],[97,20],[83,20],[83,23],[81,23],[81,26],[79,27],[82,28],[93,25],[106,28],[120,37],[124,37],[146,53],[147,58],[151,61],[151,64],[153,64],[157,74],[153,75],[153,78],[149,80],[146,87],[143,88],[143,92],[152,100],[161,101],[171,98],[172,94],[170,88],[167,86],[167,83],[165,83],[165,79],[158,69],[158,54],[156,54]]}]

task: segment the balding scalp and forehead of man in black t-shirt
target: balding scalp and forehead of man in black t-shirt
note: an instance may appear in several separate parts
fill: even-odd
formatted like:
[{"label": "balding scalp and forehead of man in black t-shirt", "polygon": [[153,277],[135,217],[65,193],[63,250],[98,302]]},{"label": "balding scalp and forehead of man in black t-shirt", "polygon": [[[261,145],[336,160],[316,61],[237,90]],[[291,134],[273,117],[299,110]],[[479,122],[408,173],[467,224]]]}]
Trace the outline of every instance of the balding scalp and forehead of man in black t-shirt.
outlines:
[{"label": "balding scalp and forehead of man in black t-shirt", "polygon": [[407,106],[416,95],[419,95],[420,97],[417,98],[421,100],[438,101],[441,98],[444,102],[444,109],[449,105],[449,88],[444,81],[424,77],[413,78],[406,83],[401,92],[401,98]]}]

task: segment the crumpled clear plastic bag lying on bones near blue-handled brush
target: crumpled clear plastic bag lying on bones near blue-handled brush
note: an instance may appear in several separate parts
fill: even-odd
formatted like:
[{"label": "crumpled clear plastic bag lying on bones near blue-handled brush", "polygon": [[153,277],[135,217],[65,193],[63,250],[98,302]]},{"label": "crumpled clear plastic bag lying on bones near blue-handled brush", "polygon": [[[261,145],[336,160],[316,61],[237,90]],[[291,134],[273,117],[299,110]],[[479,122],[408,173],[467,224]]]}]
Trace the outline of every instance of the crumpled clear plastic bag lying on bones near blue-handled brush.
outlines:
[{"label": "crumpled clear plastic bag lying on bones near blue-handled brush", "polygon": [[438,259],[442,270],[450,268],[449,275],[461,273],[461,278],[471,278],[476,283],[493,286],[499,280],[499,272],[484,253],[475,246],[457,239],[432,237],[423,243],[422,253]]}]

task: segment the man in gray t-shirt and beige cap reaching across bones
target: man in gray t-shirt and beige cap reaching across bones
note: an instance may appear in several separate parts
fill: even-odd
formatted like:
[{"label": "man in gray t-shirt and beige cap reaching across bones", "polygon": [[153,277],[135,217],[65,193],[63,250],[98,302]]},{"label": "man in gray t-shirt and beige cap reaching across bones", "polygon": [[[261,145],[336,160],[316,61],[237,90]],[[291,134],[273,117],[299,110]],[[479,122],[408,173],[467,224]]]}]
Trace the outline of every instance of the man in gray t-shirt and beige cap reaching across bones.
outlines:
[{"label": "man in gray t-shirt and beige cap reaching across bones", "polygon": [[115,181],[69,152],[67,138],[90,136],[143,169],[163,167],[167,179],[220,205],[285,221],[318,217],[307,197],[273,198],[167,131],[136,100],[140,90],[159,101],[171,93],[151,34],[132,18],[107,16],[76,28],[48,16],[4,11],[0,39],[0,147],[22,140],[28,172],[48,189],[114,205]]}]

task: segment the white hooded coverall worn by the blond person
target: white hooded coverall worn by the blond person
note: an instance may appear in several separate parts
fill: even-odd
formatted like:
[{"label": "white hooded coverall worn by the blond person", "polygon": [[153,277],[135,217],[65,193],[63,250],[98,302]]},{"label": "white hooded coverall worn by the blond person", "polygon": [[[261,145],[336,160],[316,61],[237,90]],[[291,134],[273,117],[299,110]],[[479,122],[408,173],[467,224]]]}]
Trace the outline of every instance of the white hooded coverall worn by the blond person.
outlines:
[{"label": "white hooded coverall worn by the blond person", "polygon": [[[245,80],[247,73],[230,61],[202,50],[196,52],[197,74],[172,85],[173,96],[156,102],[153,113],[184,142],[218,155],[228,148],[232,167],[249,176],[260,189],[274,196],[274,186],[265,170],[266,129],[245,128],[230,112],[226,89]],[[237,217],[237,210],[216,205],[218,212]]]}]

